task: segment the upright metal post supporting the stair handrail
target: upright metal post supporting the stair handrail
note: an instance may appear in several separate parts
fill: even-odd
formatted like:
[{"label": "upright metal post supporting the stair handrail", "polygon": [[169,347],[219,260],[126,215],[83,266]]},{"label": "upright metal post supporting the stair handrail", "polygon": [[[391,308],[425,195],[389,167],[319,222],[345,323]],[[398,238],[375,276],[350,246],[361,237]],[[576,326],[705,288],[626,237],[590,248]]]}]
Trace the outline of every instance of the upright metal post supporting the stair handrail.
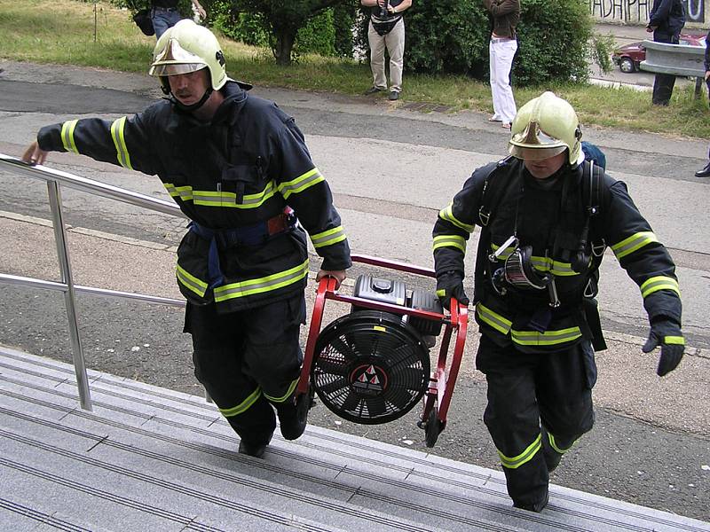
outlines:
[{"label": "upright metal post supporting the stair handrail", "polygon": [[83,410],[91,411],[89,379],[86,375],[86,364],[83,359],[82,338],[79,334],[79,322],[76,317],[76,298],[74,291],[74,279],[72,278],[72,270],[69,263],[67,231],[64,228],[64,220],[61,212],[61,192],[59,191],[59,184],[56,180],[50,179],[47,181],[47,192],[49,193],[51,219],[54,223],[54,241],[57,244],[59,275],[61,277],[60,280],[63,284],[67,285],[67,290],[64,292],[64,304],[67,308],[69,340],[72,344],[76,386],[79,388],[79,403],[81,404]]}]

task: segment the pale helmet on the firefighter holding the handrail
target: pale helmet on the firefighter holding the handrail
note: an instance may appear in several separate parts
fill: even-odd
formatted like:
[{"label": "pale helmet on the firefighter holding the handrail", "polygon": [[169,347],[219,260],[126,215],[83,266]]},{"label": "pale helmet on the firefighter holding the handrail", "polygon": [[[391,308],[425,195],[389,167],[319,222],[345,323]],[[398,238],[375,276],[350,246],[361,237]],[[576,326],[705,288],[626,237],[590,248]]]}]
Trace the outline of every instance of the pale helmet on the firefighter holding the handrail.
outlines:
[{"label": "pale helmet on the firefighter holding the handrail", "polygon": [[[155,43],[153,63],[148,74],[160,78],[188,74],[209,68],[213,90],[220,90],[229,80],[225,71],[225,54],[217,37],[208,28],[183,19],[161,35]],[[167,80],[162,79],[163,87]]]}]

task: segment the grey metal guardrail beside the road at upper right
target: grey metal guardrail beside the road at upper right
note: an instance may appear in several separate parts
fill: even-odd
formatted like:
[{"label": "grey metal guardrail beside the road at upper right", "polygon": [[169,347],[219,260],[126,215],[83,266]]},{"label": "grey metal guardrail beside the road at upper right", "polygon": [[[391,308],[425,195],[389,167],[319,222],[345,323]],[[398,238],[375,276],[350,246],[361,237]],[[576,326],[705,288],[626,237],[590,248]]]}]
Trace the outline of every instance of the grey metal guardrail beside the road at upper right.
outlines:
[{"label": "grey metal guardrail beside the road at upper right", "polygon": [[705,79],[705,47],[687,44],[643,41],[646,59],[641,69],[656,74],[674,74],[695,78],[695,98],[702,94]]}]

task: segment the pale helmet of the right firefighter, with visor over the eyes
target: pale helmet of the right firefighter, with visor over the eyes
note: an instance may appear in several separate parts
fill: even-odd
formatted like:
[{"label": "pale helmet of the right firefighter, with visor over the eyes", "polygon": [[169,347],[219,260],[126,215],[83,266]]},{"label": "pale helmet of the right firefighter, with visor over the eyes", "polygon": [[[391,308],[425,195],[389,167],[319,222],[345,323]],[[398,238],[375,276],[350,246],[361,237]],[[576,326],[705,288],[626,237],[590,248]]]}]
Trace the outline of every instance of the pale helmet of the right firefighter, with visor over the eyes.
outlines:
[{"label": "pale helmet of the right firefighter, with visor over the eyes", "polygon": [[565,150],[576,167],[584,160],[577,113],[563,98],[544,92],[517,112],[510,128],[508,151],[513,157],[542,160]]}]

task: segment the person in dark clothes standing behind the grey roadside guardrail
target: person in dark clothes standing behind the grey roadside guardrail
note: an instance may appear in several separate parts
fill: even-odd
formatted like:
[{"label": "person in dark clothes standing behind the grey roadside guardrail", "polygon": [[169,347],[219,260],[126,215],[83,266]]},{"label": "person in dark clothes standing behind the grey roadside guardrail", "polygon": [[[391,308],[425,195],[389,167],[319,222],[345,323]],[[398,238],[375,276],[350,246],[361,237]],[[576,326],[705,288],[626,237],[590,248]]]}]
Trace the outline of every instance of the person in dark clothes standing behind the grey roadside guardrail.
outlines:
[{"label": "person in dark clothes standing behind the grey roadside guardrail", "polygon": [[[656,43],[677,44],[683,26],[685,26],[685,10],[681,0],[653,0],[646,31],[653,32],[653,40]],[[674,85],[674,74],[656,74],[651,100],[653,105],[667,106]]]}]

